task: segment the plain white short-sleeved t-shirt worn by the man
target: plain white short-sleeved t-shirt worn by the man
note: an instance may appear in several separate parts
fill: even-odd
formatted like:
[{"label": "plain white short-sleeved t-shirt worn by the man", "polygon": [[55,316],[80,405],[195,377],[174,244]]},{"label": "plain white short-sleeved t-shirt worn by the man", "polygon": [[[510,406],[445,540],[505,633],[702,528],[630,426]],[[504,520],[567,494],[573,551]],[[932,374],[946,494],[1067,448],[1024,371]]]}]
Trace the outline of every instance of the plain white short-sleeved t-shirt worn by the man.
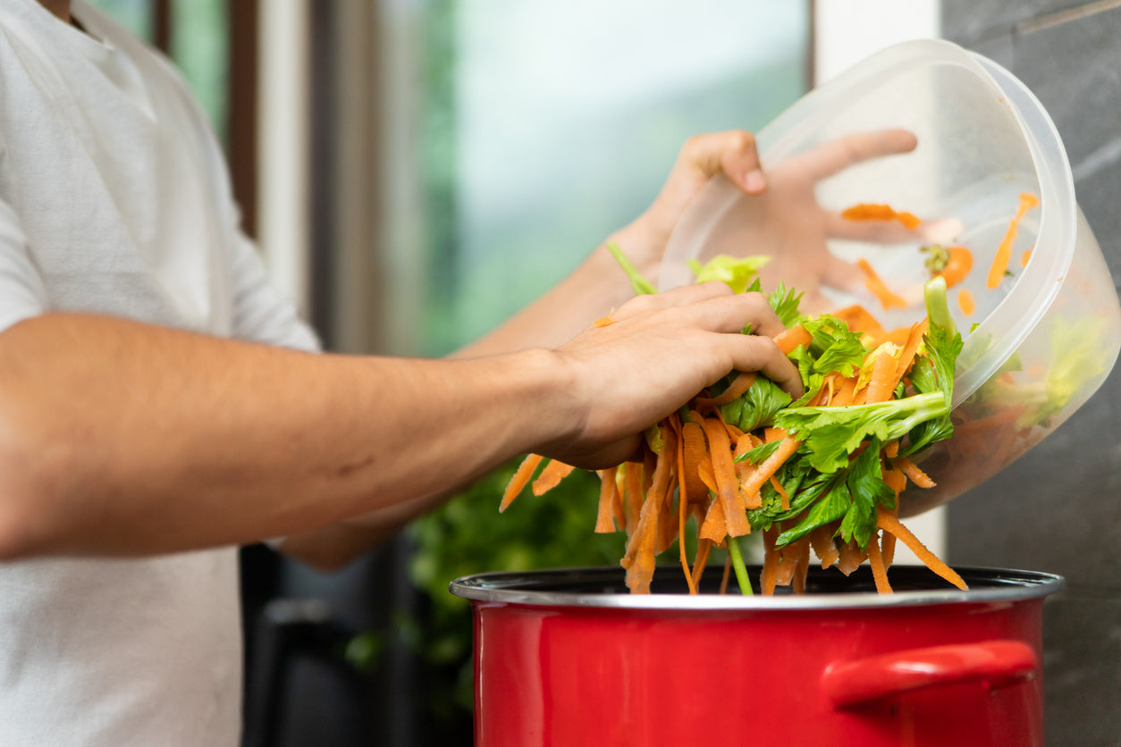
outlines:
[{"label": "plain white short-sleeved t-shirt worn by the man", "polygon": [[[314,349],[182,81],[73,15],[89,34],[0,2],[0,329],[89,311]],[[240,695],[234,548],[0,563],[0,746],[233,746]]]}]

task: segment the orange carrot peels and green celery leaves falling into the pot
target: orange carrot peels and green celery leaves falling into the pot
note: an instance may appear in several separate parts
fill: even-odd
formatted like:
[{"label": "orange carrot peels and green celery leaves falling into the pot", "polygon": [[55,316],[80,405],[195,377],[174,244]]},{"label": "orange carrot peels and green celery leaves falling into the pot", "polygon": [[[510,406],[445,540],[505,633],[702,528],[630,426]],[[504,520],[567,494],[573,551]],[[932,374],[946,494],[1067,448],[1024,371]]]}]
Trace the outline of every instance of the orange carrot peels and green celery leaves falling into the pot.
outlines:
[{"label": "orange carrot peels and green celery leaves falling into the pot", "polygon": [[[618,248],[612,251],[621,255]],[[759,267],[758,258],[751,261]],[[719,262],[697,276],[730,272],[739,283],[754,274],[731,268],[729,258]],[[642,287],[633,278],[632,284]],[[743,291],[759,290],[758,277],[743,283]],[[934,485],[918,466],[923,452],[953,433],[953,376],[962,340],[946,307],[945,280],[928,286],[927,318],[895,335],[900,343],[879,342],[882,328],[861,328],[860,320],[872,319],[867,311],[846,309],[850,327],[836,316],[802,315],[799,299],[781,284],[768,297],[787,327],[775,340],[798,366],[800,399],[791,401],[761,374],[730,372],[648,429],[639,456],[599,471],[595,531],[626,532],[621,564],[631,592],[650,591],[656,557],[676,541],[691,594],[697,592],[714,547],[728,549],[725,581],[731,569],[741,594],[752,594],[739,547],[739,538],[752,532],[763,539],[762,594],[778,586],[804,591],[810,551],[823,568],[835,566],[845,575],[868,559],[877,588],[888,592],[897,540],[935,573],[965,588],[897,517],[908,484]],[[567,469],[527,456],[500,510],[543,463],[537,482]],[[684,541],[691,520],[692,561]]]}]

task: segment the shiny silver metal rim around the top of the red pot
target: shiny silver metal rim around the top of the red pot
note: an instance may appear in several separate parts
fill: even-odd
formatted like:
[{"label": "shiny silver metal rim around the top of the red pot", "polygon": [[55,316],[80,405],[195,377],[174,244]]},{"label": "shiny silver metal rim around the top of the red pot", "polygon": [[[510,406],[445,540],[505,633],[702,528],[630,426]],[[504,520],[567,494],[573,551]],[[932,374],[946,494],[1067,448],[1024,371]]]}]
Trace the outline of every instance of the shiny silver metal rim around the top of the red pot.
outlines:
[{"label": "shiny silver metal rim around the top of the red pot", "polygon": [[[749,569],[752,567],[749,566]],[[753,576],[758,578],[759,567]],[[457,578],[448,591],[475,603],[527,605],[535,607],[600,607],[658,610],[793,610],[793,609],[869,609],[882,607],[917,607],[946,604],[1009,603],[1046,597],[1059,591],[1066,580],[1062,576],[1037,571],[1000,568],[955,568],[970,586],[967,591],[949,587],[924,566],[892,566],[892,582],[899,577],[915,577],[926,582],[937,581],[938,588],[876,591],[781,592],[775,596],[736,594],[657,592],[632,595],[622,589],[624,572],[618,567],[556,568],[537,571],[494,571]],[[810,569],[810,576],[839,575],[836,569]],[[867,573],[861,567],[851,577]],[[842,577],[844,578],[844,577]],[[914,580],[914,579],[912,579]],[[684,581],[683,581],[684,583]],[[564,586],[600,585],[603,590],[565,591]],[[945,585],[943,588],[941,585]]]}]

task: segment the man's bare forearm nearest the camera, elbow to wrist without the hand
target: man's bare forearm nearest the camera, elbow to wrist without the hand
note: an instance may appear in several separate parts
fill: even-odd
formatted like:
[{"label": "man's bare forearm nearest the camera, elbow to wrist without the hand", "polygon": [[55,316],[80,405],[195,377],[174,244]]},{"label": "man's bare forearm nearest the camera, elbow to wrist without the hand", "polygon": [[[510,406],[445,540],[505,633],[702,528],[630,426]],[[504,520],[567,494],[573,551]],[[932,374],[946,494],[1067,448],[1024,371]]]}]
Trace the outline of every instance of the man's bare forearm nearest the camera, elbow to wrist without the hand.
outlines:
[{"label": "man's bare forearm nearest the camera, elbow to wrist without the hand", "polygon": [[0,334],[0,553],[240,543],[437,494],[555,435],[534,417],[543,396],[564,411],[550,355],[312,355],[29,319]]}]

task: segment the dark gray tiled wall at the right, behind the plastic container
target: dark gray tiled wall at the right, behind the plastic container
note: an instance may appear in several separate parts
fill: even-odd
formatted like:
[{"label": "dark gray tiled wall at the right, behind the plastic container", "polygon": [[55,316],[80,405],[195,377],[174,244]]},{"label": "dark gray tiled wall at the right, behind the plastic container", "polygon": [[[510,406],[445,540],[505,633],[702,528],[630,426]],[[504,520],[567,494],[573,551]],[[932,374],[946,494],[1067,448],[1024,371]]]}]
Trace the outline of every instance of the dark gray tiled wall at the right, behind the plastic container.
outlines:
[{"label": "dark gray tiled wall at the right, behind the plastic container", "polygon": [[[945,0],[944,35],[1000,63],[1054,119],[1078,203],[1121,278],[1121,7]],[[1060,573],[1044,613],[1048,747],[1121,746],[1121,366],[1074,417],[949,507],[955,564]]]}]

